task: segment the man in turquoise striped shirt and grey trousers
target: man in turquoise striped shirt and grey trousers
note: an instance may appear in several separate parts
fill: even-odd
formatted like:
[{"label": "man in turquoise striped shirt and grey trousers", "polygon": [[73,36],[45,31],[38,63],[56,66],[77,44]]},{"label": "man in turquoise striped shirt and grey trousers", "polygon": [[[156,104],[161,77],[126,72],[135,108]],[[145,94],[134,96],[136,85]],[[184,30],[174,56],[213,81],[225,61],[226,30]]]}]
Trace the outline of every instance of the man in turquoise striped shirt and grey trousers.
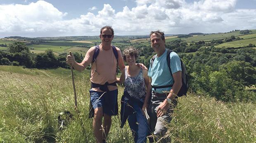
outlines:
[{"label": "man in turquoise striped shirt and grey trousers", "polygon": [[[166,123],[171,122],[171,113],[177,105],[175,100],[181,86],[181,63],[177,53],[171,52],[171,72],[167,65],[167,49],[165,47],[164,32],[152,31],[149,35],[151,46],[156,52],[153,63],[150,63],[148,76],[151,77],[152,100],[149,105],[151,129],[158,141],[166,134]],[[151,61],[150,61],[151,62]],[[152,64],[152,65],[151,65]],[[172,75],[171,75],[172,74]],[[170,85],[170,86],[166,86]],[[171,85],[173,85],[171,87]],[[163,87],[165,86],[165,87]],[[161,138],[162,143],[170,142],[168,138]]]}]

